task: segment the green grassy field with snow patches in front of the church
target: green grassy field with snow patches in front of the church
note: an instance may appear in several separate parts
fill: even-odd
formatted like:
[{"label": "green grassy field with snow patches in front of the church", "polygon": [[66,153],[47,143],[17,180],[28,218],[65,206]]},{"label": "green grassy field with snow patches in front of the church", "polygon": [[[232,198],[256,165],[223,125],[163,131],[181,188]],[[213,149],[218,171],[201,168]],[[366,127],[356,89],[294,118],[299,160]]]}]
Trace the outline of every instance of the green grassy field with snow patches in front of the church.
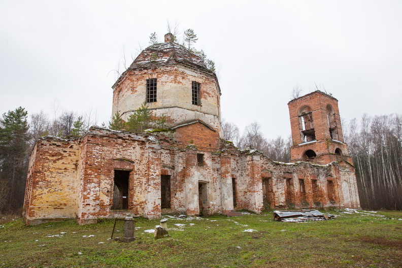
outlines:
[{"label": "green grassy field with snow patches in front of the church", "polygon": [[109,239],[112,220],[25,226],[16,219],[0,223],[0,267],[402,267],[402,211],[329,213],[338,217],[166,216],[169,237],[159,240],[145,232],[159,221],[138,218],[131,243]]}]

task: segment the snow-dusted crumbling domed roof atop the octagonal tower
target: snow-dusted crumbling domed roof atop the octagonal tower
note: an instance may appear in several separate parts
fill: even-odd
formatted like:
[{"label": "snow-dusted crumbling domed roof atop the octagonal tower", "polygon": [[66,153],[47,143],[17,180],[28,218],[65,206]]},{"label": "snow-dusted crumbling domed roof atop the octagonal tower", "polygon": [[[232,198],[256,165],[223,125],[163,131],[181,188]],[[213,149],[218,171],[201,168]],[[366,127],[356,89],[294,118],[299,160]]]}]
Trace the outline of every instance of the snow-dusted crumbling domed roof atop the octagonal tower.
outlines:
[{"label": "snow-dusted crumbling domed roof atop the octagonal tower", "polygon": [[[170,40],[166,40],[170,41]],[[129,69],[180,62],[208,70],[204,60],[191,50],[174,42],[155,44],[144,49],[131,63]]]}]

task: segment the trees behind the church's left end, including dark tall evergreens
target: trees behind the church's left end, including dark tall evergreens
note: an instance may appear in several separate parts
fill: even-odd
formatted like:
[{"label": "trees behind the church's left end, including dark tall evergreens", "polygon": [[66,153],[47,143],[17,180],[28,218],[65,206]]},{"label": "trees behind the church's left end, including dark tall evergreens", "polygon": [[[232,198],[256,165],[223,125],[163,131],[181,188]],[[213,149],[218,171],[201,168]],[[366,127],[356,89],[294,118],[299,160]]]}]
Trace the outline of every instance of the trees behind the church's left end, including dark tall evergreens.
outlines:
[{"label": "trees behind the church's left end, including dark tall evergreens", "polygon": [[54,117],[19,107],[0,116],[0,214],[19,213],[23,206],[29,156],[36,141],[44,136],[80,137],[96,124],[92,110],[79,115],[53,109]]}]

